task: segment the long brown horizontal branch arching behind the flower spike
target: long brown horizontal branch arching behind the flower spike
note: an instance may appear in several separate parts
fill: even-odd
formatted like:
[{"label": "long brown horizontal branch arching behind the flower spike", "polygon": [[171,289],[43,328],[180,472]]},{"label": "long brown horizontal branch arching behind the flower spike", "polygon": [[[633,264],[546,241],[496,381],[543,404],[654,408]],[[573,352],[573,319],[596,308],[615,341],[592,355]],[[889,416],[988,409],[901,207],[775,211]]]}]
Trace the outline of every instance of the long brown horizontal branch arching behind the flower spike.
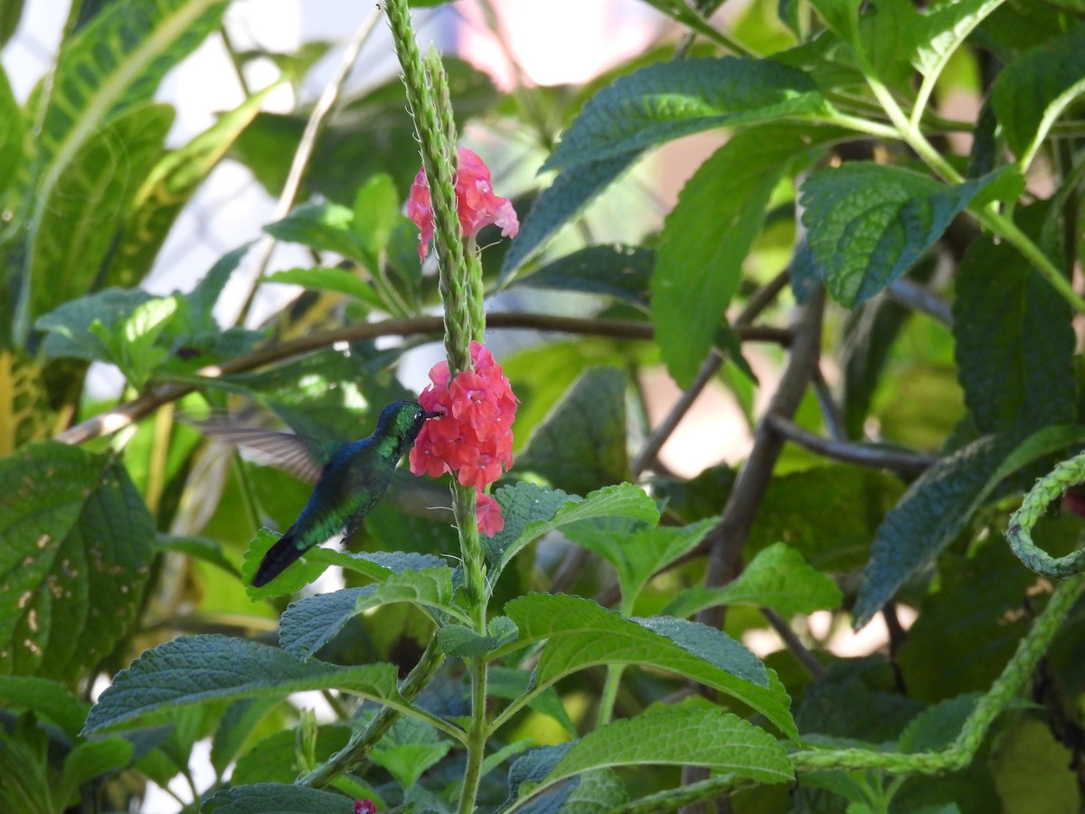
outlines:
[{"label": "long brown horizontal branch arching behind the flower spike", "polygon": [[[651,340],[655,334],[652,326],[647,322],[634,322],[620,319],[580,319],[575,317],[556,317],[548,314],[499,313],[486,318],[487,327],[500,329],[534,329],[553,331],[557,333],[575,333],[586,336],[609,336],[611,339]],[[259,347],[251,353],[234,356],[232,359],[216,365],[200,368],[195,376],[204,379],[217,379],[232,373],[282,361],[294,356],[304,356],[339,342],[362,342],[378,336],[418,336],[439,335],[444,331],[441,317],[413,317],[408,319],[386,319],[381,322],[362,322],[346,326],[334,331],[315,333],[308,336],[279,342]],[[791,333],[784,329],[764,326],[751,326],[737,331],[739,339],[746,342],[776,342],[787,344]],[[165,382],[153,385],[138,398],[106,410],[80,424],[68,428],[55,436],[65,444],[85,444],[91,438],[107,435],[120,430],[133,421],[154,412],[158,407],[175,402],[197,390],[199,385],[191,383]]]}]

